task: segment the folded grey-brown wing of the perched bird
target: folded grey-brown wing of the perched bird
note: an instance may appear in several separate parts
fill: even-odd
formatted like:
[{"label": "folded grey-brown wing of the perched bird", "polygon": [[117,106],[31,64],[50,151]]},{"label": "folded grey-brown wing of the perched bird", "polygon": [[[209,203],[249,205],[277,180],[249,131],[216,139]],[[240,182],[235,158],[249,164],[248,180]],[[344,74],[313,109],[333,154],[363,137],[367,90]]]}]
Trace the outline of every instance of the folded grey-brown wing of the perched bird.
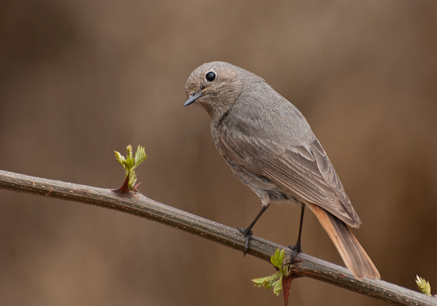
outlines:
[{"label": "folded grey-brown wing of the perched bird", "polygon": [[218,132],[226,157],[234,163],[326,209],[352,227],[361,224],[317,138],[307,147],[295,146],[248,124],[226,122],[220,124]]}]

